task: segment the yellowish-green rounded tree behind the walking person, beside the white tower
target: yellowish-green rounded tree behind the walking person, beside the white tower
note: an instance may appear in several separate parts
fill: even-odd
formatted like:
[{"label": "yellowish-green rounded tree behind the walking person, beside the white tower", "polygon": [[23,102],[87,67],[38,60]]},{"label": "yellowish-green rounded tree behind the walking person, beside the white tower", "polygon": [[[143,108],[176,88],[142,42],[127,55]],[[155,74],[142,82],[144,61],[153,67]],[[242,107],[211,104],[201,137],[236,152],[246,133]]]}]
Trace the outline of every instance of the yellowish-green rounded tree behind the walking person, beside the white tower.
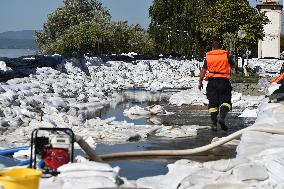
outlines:
[{"label": "yellowish-green rounded tree behind the walking person, beside the white tower", "polygon": [[[222,41],[226,35],[233,38],[236,46],[246,49],[264,37],[263,26],[267,23],[267,17],[252,8],[247,0],[217,0],[201,17],[200,31],[207,43]],[[238,38],[239,30],[246,32],[245,38]]]}]

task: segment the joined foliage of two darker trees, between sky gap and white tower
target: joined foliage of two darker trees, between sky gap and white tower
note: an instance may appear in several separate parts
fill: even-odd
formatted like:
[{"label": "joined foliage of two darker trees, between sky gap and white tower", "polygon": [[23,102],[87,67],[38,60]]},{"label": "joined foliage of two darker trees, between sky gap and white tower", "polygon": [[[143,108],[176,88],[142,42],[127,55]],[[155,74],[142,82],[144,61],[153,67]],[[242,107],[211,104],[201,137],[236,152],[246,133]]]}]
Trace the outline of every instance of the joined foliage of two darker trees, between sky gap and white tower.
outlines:
[{"label": "joined foliage of two darker trees, between sky gap and white tower", "polygon": [[[267,18],[247,0],[154,0],[149,9],[150,36],[157,53],[202,54],[213,40],[229,38],[239,47],[263,37]],[[247,36],[237,39],[239,30]]]}]

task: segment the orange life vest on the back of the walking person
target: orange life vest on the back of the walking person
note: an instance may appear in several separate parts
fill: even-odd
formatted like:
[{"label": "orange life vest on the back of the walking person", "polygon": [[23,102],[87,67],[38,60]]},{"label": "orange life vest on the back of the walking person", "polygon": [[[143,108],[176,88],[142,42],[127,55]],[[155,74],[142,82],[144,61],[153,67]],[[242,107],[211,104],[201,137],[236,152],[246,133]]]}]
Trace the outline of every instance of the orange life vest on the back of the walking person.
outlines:
[{"label": "orange life vest on the back of the walking person", "polygon": [[206,53],[206,61],[209,71],[206,78],[230,78],[230,64],[227,51],[221,49],[210,51]]}]

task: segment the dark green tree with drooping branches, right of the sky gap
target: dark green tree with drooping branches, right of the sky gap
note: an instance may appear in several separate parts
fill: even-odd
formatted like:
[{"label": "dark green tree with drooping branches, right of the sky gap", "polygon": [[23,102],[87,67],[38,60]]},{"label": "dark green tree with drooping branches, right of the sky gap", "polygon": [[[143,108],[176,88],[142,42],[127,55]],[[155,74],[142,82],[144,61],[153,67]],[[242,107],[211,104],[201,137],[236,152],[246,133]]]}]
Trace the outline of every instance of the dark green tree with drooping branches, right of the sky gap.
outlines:
[{"label": "dark green tree with drooping branches, right of the sky gap", "polygon": [[149,9],[150,36],[157,53],[191,56],[202,45],[199,19],[216,0],[155,0]]}]

